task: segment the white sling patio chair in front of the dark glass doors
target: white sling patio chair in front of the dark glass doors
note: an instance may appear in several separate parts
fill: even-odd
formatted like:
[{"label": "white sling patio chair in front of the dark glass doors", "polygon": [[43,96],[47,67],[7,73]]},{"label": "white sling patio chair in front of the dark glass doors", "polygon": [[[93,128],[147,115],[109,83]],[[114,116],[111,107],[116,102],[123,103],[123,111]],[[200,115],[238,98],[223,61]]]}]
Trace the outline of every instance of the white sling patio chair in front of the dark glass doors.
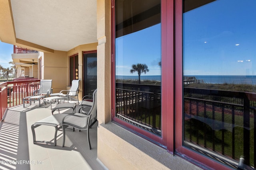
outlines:
[{"label": "white sling patio chair in front of the dark glass doors", "polygon": [[[77,102],[79,102],[79,100],[78,100],[79,81],[80,80],[72,80],[72,85],[71,85],[70,90],[61,90],[60,93],[58,94],[58,96],[66,97],[66,98],[68,98],[68,101],[70,100],[70,102],[71,102],[71,96],[76,96]],[[66,94],[64,94],[63,92],[65,92]],[[53,95],[51,94],[51,96],[53,96]]]}]

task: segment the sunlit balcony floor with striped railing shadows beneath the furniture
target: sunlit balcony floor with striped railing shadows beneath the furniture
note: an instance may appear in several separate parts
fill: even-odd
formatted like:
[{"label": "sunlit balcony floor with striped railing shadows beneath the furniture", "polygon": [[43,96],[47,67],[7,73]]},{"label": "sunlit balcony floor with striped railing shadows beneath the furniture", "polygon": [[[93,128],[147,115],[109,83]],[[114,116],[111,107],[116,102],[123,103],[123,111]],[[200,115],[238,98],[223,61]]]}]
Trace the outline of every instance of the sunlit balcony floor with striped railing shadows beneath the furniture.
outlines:
[{"label": "sunlit balcony floor with striped railing shadows beneath the furniture", "polygon": [[[86,131],[66,130],[62,147],[62,130],[57,134],[57,145],[33,144],[31,125],[52,115],[50,105],[39,107],[38,102],[26,108],[10,107],[0,123],[0,169],[3,170],[104,170],[97,160],[97,126],[90,129],[92,149],[87,143]],[[53,104],[54,106],[54,104]],[[78,106],[78,105],[77,105]],[[78,111],[78,107],[76,107]],[[70,113],[62,110],[60,113]],[[55,111],[54,114],[58,114]],[[35,129],[36,141],[53,142],[55,128],[41,125]]]}]

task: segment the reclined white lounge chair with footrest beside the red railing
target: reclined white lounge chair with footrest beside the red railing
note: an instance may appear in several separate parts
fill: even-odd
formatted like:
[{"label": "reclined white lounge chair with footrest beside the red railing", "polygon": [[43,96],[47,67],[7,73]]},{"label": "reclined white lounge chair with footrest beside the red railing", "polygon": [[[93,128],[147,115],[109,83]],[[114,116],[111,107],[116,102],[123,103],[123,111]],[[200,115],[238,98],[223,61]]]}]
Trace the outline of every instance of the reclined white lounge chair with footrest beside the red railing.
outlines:
[{"label": "reclined white lounge chair with footrest beside the red railing", "polygon": [[41,80],[40,81],[40,88],[38,90],[34,90],[33,92],[33,96],[27,96],[25,98],[22,99],[23,102],[23,107],[25,107],[25,102],[31,102],[32,101],[39,101],[39,106],[40,104],[40,100],[45,98],[46,96],[48,97],[52,92],[52,80]]}]

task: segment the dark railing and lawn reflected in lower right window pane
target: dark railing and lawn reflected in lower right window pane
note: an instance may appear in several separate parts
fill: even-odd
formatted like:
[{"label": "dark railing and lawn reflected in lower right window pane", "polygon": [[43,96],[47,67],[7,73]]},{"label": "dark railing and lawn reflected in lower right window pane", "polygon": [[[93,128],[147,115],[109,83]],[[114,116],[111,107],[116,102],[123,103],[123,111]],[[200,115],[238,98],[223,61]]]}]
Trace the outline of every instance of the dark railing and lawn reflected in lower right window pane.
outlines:
[{"label": "dark railing and lawn reflected in lower right window pane", "polygon": [[[256,94],[184,88],[184,139],[245,164],[256,164]],[[191,145],[190,145],[191,144]]]}]

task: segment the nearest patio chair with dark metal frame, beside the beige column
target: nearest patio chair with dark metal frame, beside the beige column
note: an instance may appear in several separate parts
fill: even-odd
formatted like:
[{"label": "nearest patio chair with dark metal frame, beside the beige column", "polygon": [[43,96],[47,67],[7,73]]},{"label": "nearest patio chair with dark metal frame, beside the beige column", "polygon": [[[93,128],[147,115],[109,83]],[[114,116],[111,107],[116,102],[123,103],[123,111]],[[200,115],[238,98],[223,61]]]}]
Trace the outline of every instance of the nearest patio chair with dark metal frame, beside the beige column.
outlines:
[{"label": "nearest patio chair with dark metal frame, beside the beige column", "polygon": [[[93,92],[93,101],[92,106],[90,107],[90,110],[88,111],[87,115],[84,113],[75,113],[71,115],[66,115],[62,119],[62,131],[63,131],[63,144],[62,147],[65,145],[65,137],[66,137],[66,128],[68,126],[71,126],[73,128],[79,129],[79,130],[87,130],[87,141],[90,149],[91,143],[90,143],[90,137],[89,137],[89,129],[92,127],[92,125],[97,121],[97,90]],[[90,124],[90,121],[92,119],[96,119],[94,123]],[[73,129],[74,131],[74,129]]]}]

